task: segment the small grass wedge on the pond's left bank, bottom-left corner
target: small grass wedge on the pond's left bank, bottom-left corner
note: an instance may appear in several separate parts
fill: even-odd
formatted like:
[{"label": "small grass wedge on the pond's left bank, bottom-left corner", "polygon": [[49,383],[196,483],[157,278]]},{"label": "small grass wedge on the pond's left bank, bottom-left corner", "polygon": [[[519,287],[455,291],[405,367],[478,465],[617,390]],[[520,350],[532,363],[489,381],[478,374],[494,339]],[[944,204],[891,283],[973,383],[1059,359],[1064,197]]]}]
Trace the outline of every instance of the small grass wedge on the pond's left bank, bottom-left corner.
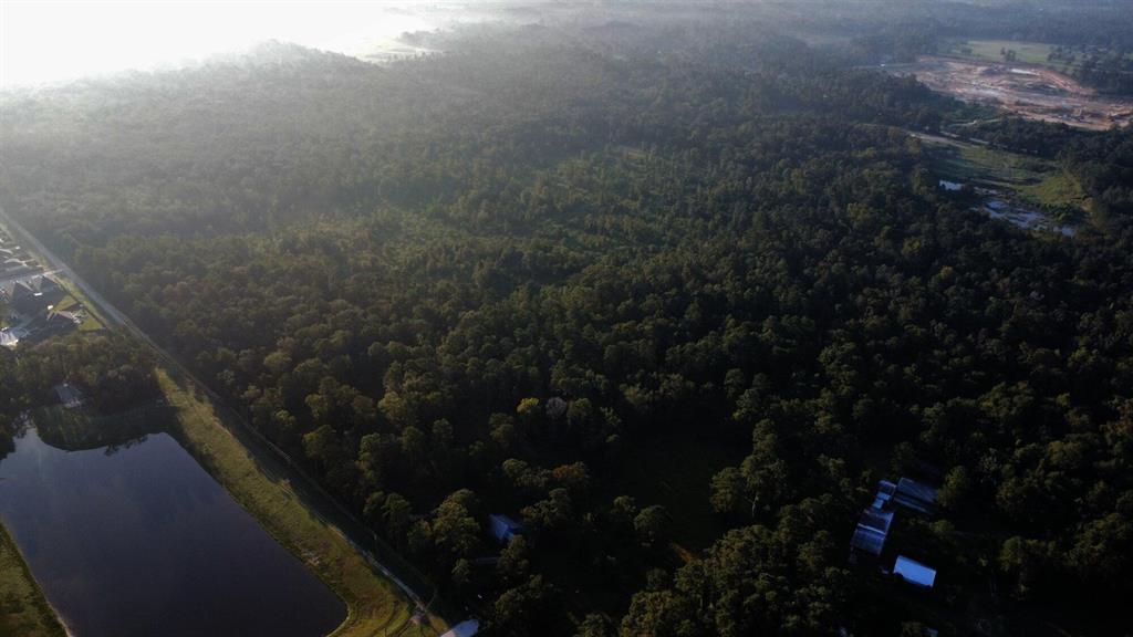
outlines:
[{"label": "small grass wedge on the pond's left bank, bottom-left corner", "polygon": [[67,632],[0,524],[0,637],[63,637]]}]

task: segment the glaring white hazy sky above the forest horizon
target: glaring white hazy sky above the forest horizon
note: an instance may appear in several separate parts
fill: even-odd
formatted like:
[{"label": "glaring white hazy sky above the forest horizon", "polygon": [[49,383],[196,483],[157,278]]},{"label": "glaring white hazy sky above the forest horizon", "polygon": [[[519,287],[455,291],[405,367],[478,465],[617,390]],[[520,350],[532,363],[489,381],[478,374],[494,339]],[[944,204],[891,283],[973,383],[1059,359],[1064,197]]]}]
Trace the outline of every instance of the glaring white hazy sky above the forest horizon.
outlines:
[{"label": "glaring white hazy sky above the forest horizon", "polygon": [[283,40],[348,54],[440,26],[421,0],[52,2],[0,0],[0,86],[152,69]]}]

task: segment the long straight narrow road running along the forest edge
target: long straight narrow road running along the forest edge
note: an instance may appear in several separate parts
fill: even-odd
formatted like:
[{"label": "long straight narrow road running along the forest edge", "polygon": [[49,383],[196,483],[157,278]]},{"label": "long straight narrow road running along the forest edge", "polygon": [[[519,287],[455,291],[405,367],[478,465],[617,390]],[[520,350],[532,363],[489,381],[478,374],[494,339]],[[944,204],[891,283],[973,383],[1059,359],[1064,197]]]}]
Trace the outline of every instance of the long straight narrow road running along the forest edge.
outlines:
[{"label": "long straight narrow road running along the forest edge", "polygon": [[[393,581],[398,588],[417,606],[419,611],[429,609],[436,601],[432,585],[415,572],[411,566],[398,555],[393,549],[382,542],[372,530],[365,527],[357,517],[343,507],[334,496],[327,493],[301,467],[280,448],[263,436],[258,431],[244,422],[233,409],[228,408],[220,396],[201,382],[177,358],[159,346],[147,333],[137,326],[130,317],[119,311],[97,290],[91,287],[66,262],[48,249],[34,235],[28,232],[18,221],[8,215],[0,206],[0,223],[3,223],[14,238],[26,243],[26,247],[40,255],[48,269],[61,273],[97,306],[99,313],[108,321],[121,325],[134,337],[145,342],[170,367],[172,372],[185,379],[195,389],[205,393],[213,401],[216,411],[225,417],[219,418],[224,427],[252,452],[256,462],[270,477],[283,479],[296,493],[304,506],[317,518],[335,528],[340,534],[369,561],[378,572]],[[391,563],[392,562],[392,563]],[[436,612],[436,611],[434,611]]]}]

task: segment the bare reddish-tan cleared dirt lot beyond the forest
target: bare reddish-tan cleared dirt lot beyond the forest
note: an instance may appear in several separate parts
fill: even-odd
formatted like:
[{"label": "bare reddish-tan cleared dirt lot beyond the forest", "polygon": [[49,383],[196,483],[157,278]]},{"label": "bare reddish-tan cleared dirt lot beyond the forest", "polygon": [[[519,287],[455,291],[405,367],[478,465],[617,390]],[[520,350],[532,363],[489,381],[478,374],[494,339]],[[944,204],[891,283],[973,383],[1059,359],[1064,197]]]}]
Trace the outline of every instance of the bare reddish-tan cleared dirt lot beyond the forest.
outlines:
[{"label": "bare reddish-tan cleared dirt lot beyond the forest", "polygon": [[1003,107],[1029,119],[1104,130],[1133,121],[1133,101],[1098,95],[1092,88],[1038,65],[923,57],[894,68],[929,88],[970,102]]}]

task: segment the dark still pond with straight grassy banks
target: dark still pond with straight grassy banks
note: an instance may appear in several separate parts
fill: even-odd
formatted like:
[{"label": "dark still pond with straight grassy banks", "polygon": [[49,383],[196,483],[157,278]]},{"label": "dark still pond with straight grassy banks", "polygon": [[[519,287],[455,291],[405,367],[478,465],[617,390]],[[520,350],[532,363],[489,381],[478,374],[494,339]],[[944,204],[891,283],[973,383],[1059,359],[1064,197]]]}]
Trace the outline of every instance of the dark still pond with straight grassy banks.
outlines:
[{"label": "dark still pond with straight grassy banks", "polygon": [[0,460],[0,517],[77,637],[333,630],[346,606],[169,435]]}]

